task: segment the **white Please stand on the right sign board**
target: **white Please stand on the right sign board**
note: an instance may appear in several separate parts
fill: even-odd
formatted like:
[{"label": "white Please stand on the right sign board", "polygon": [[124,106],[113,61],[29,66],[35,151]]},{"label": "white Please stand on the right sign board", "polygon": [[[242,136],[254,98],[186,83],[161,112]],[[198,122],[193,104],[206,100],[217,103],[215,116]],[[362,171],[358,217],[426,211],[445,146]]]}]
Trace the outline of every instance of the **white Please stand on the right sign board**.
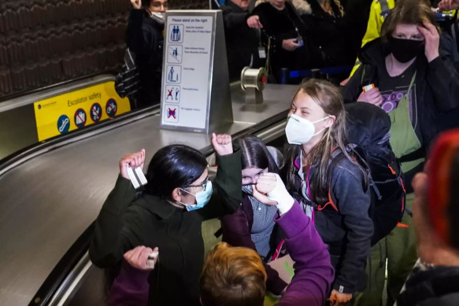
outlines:
[{"label": "white Please stand on the right sign board", "polygon": [[209,130],[216,19],[216,11],[166,13],[162,128]]}]

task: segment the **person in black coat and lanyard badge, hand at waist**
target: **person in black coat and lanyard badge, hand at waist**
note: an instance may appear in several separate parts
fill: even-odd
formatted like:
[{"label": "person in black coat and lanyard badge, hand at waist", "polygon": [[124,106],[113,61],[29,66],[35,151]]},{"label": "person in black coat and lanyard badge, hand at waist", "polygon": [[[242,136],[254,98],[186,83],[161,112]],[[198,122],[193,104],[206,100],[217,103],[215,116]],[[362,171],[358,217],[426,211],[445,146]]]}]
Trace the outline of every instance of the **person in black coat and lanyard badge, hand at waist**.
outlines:
[{"label": "person in black coat and lanyard badge, hand at waist", "polygon": [[252,11],[253,15],[259,17],[263,26],[261,39],[267,47],[270,72],[277,83],[282,81],[282,68],[310,69],[312,59],[317,58],[312,54],[313,49],[305,24],[299,16],[310,12],[311,8],[302,0],[294,2],[298,2],[299,5],[286,0],[259,0]]}]

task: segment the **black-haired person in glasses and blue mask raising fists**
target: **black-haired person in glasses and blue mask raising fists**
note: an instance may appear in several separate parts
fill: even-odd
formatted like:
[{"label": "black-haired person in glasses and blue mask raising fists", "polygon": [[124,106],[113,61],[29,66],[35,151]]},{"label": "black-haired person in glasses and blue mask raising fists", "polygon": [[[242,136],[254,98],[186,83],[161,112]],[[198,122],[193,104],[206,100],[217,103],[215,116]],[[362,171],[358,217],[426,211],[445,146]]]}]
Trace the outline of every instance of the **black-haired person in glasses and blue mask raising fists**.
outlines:
[{"label": "black-haired person in glasses and blue mask raising fists", "polygon": [[[169,145],[152,158],[145,191],[136,196],[127,167],[143,167],[145,150],[124,156],[115,188],[95,221],[89,247],[91,261],[100,268],[123,262],[123,254],[137,246],[158,247],[155,269],[132,272],[132,283],[148,277],[149,305],[200,305],[199,276],[204,259],[201,223],[233,213],[241,202],[241,153],[229,135],[212,135],[218,171],[213,192],[207,161],[186,145]],[[208,204],[209,202],[209,204]],[[129,267],[124,267],[129,269]],[[144,273],[142,273],[144,272]],[[143,278],[142,278],[143,277]],[[127,282],[129,284],[129,282]],[[132,292],[139,298],[139,292]],[[110,292],[111,305],[130,297]]]}]

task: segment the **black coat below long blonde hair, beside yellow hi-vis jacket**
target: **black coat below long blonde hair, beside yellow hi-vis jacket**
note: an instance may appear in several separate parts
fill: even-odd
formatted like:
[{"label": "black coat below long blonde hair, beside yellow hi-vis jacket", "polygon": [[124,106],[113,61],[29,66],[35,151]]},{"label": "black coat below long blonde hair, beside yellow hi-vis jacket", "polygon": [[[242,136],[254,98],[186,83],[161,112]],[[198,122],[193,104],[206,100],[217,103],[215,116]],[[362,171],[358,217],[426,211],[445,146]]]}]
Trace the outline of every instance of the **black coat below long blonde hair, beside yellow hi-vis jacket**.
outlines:
[{"label": "black coat below long blonde hair, beside yellow hi-vis jacket", "polygon": [[[310,2],[312,13],[302,14],[307,34],[311,42],[311,56],[314,68],[351,65],[355,55],[349,53],[351,49],[347,36],[347,24],[341,16],[339,7],[331,1],[331,9],[335,16],[325,12],[316,0]],[[354,57],[354,58],[352,58]]]}]

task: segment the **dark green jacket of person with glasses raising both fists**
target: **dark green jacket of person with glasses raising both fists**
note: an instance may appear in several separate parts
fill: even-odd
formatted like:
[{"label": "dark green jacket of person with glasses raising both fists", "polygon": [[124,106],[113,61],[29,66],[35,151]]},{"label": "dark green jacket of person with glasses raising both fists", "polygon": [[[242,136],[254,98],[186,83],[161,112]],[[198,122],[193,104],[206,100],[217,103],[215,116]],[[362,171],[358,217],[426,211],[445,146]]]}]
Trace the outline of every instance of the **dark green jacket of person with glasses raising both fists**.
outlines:
[{"label": "dark green jacket of person with glasses raising both fists", "polygon": [[95,221],[89,256],[94,265],[110,268],[136,246],[159,247],[157,267],[148,277],[149,304],[200,305],[199,277],[204,260],[201,223],[234,213],[241,203],[241,151],[217,156],[218,171],[211,201],[188,212],[165,199],[136,191],[119,176]]}]

